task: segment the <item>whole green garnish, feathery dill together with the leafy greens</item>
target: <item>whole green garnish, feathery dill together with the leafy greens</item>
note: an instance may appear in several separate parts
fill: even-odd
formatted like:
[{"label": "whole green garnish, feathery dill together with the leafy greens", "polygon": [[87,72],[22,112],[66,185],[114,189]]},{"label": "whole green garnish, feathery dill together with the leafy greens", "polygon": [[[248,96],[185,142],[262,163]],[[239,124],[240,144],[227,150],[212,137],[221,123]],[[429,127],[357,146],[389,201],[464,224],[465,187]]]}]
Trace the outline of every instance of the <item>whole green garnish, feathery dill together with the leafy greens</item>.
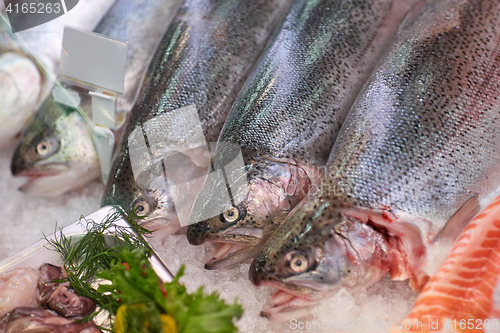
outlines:
[{"label": "whole green garnish, feathery dill together with the leafy greens", "polygon": [[[181,267],[174,280],[162,283],[148,258],[151,250],[140,227],[124,212],[108,216],[105,221],[87,221],[87,233],[78,241],[60,233],[49,242],[65,258],[68,280],[75,291],[89,297],[106,310],[116,333],[230,333],[237,331],[233,318],[241,318],[243,310],[235,301],[227,305],[217,293],[206,295],[203,287],[188,294],[179,284]],[[130,228],[114,225],[125,218]],[[95,278],[106,279],[94,289]],[[93,313],[89,316],[95,316]]]}]

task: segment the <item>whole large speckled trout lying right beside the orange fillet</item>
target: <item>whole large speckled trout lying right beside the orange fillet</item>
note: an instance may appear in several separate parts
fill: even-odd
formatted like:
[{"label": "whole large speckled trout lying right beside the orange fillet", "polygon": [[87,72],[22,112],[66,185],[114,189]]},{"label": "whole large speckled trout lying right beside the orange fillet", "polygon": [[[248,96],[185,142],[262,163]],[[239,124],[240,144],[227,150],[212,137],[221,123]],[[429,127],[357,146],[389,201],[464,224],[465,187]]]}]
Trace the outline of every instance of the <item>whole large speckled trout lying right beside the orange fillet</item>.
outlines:
[{"label": "whole large speckled trout lying right beside the orange fillet", "polygon": [[496,0],[447,0],[400,34],[353,104],[328,177],[252,263],[254,284],[314,300],[390,270],[421,287],[447,221],[499,192],[499,23]]}]

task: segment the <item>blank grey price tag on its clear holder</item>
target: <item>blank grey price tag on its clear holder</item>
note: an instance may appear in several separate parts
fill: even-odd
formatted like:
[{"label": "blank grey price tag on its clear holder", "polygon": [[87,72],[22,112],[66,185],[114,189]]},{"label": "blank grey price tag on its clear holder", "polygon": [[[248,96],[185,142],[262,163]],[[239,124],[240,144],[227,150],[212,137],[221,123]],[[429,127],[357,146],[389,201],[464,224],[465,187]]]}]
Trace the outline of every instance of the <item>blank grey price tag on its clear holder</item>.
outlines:
[{"label": "blank grey price tag on its clear holder", "polygon": [[[112,130],[124,123],[123,118],[117,117],[116,100],[124,90],[127,53],[128,42],[71,27],[64,28],[59,78],[62,82],[90,91],[95,125],[92,139],[104,183],[111,169],[115,142]],[[66,93],[56,95],[64,95],[67,100],[74,93],[68,89]],[[56,100],[64,101],[65,98]]]}]

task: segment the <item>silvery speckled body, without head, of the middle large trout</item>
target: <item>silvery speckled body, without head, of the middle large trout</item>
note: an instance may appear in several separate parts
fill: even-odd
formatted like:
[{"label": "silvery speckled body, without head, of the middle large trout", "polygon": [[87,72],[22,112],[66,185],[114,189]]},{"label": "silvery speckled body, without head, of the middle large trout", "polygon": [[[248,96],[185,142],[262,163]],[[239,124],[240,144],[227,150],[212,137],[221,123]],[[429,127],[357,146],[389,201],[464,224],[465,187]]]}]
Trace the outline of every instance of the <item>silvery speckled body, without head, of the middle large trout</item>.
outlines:
[{"label": "silvery speckled body, without head, of the middle large trout", "polygon": [[392,5],[295,1],[235,102],[219,141],[236,143],[253,155],[256,150],[324,165],[349,106],[387,43],[373,47]]}]

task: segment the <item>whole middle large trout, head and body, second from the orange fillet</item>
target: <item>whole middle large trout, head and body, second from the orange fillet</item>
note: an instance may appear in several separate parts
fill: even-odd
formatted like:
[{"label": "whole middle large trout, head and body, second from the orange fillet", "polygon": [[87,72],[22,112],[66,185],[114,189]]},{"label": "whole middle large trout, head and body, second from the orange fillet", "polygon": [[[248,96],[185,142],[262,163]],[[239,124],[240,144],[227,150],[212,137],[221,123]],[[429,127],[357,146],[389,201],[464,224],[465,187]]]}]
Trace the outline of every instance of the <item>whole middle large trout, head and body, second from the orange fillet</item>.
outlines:
[{"label": "whole middle large trout, head and body, second from the orange fillet", "polygon": [[[192,244],[235,244],[229,256],[211,260],[207,268],[247,259],[248,247],[265,239],[305,197],[321,176],[319,167],[349,107],[415,2],[293,3],[219,138],[242,148],[249,170],[247,183],[236,191],[231,187],[239,203],[217,202],[217,180],[207,181],[192,211],[190,222],[201,221],[188,229]],[[215,168],[230,154],[225,147],[215,153]],[[200,218],[217,206],[221,212],[236,208],[238,219],[227,221],[226,213]]]}]

